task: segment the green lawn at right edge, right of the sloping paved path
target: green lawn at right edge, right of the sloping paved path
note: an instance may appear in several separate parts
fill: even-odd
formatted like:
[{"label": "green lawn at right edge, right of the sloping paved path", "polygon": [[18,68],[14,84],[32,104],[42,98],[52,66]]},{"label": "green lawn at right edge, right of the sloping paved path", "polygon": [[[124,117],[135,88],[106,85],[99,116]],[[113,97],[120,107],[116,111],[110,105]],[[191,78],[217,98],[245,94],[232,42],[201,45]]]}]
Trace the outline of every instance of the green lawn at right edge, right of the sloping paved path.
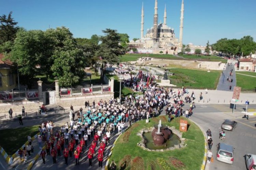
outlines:
[{"label": "green lawn at right edge, right of the sloping paved path", "polygon": [[242,91],[246,91],[246,90],[255,91],[255,87],[256,87],[256,78],[255,77],[236,74],[236,79],[237,79],[237,86],[241,87]]}]

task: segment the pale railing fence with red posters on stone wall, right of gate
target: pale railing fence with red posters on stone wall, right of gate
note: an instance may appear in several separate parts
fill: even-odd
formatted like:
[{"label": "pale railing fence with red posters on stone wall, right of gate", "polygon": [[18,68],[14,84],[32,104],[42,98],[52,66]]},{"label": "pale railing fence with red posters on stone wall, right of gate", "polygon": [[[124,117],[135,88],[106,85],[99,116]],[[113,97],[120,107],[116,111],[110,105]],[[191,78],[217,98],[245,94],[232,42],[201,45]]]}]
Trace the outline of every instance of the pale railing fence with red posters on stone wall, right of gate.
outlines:
[{"label": "pale railing fence with red posters on stone wall, right of gate", "polygon": [[87,87],[87,88],[62,87],[60,88],[59,95],[60,97],[82,96],[82,95],[89,95],[89,94],[108,93],[110,91],[111,91],[110,84],[91,85],[91,87]]}]

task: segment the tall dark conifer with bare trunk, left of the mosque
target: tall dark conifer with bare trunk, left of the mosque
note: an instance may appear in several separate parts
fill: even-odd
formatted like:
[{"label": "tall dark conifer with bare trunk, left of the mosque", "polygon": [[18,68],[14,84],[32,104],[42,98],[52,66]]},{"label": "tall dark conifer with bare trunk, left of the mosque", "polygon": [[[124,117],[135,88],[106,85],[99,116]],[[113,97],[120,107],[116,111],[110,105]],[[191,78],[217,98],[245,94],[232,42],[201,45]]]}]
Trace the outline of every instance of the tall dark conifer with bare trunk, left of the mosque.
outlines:
[{"label": "tall dark conifer with bare trunk, left of the mosque", "polygon": [[102,30],[102,32],[105,35],[100,37],[101,44],[99,45],[99,49],[95,53],[95,56],[99,57],[101,62],[101,80],[103,80],[104,65],[106,65],[107,63],[118,63],[118,56],[123,55],[126,52],[126,48],[119,45],[120,35],[117,33],[116,30],[106,29]]}]

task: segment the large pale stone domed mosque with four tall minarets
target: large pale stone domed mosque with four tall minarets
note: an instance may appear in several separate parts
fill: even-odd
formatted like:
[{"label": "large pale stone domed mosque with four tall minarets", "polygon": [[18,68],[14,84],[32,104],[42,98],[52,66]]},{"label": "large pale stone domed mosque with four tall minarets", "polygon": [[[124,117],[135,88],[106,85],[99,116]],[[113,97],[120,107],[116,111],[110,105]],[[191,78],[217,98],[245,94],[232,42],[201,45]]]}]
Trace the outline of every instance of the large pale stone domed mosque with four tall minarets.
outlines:
[{"label": "large pale stone domed mosque with four tall minarets", "polygon": [[157,14],[157,0],[155,0],[155,13],[153,18],[153,27],[147,29],[146,35],[144,35],[144,9],[142,4],[141,10],[141,38],[130,41],[130,47],[136,47],[139,53],[153,53],[159,54],[160,51],[163,54],[177,54],[182,49],[182,36],[183,36],[183,14],[184,14],[184,0],[181,4],[181,23],[180,23],[180,38],[175,37],[174,29],[167,26],[166,23],[166,6],[163,17],[163,23],[158,24]]}]

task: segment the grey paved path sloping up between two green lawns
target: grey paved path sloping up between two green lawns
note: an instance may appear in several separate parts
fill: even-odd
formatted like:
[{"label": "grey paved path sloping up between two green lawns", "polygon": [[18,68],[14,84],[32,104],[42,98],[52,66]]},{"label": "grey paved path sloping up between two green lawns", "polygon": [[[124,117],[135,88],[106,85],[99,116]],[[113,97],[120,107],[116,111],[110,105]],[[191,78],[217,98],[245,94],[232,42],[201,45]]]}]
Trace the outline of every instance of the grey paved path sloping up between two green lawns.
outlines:
[{"label": "grey paved path sloping up between two green lawns", "polygon": [[[230,76],[230,70],[233,69],[232,73],[233,75]],[[228,82],[227,78],[233,79],[233,82]],[[217,90],[224,90],[224,91],[233,91],[234,86],[236,86],[236,73],[234,69],[234,65],[226,65],[226,69],[223,70],[223,73],[221,74],[221,77],[219,78],[219,83],[217,86]],[[231,85],[231,90],[229,90],[229,86]]]}]

